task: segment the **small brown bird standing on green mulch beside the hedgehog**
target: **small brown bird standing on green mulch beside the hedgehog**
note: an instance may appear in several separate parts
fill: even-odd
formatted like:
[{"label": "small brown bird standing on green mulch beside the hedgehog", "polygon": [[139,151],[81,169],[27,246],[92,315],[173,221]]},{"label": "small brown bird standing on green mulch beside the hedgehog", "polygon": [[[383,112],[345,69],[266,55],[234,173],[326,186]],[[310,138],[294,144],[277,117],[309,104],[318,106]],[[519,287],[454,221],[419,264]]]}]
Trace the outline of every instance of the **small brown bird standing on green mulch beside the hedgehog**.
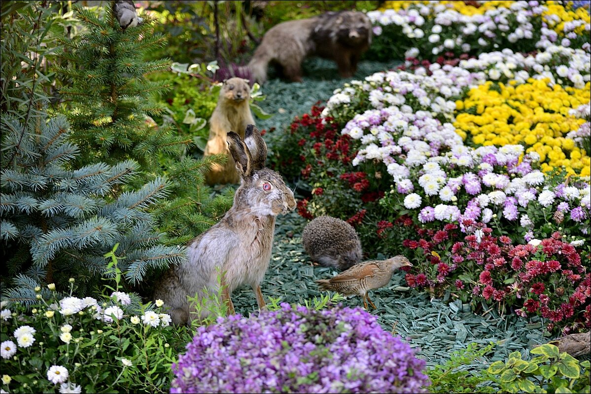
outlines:
[{"label": "small brown bird standing on green mulch beside the hedgehog", "polygon": [[353,265],[333,278],[319,279],[316,283],[322,290],[332,290],[344,295],[359,294],[363,298],[365,309],[368,309],[368,301],[376,309],[374,302],[369,299],[368,291],[387,285],[394,271],[410,266],[413,266],[410,261],[401,255],[386,260],[370,260]]}]

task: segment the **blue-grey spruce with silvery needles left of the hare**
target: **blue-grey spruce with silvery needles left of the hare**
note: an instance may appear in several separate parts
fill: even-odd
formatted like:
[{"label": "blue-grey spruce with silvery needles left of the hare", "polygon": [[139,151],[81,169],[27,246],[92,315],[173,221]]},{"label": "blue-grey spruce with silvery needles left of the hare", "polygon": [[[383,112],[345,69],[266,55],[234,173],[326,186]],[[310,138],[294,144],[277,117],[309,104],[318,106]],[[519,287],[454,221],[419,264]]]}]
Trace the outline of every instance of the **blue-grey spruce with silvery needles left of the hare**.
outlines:
[{"label": "blue-grey spruce with silvery needles left of the hare", "polygon": [[[98,162],[72,170],[80,149],[69,142],[63,116],[34,117],[25,126],[5,115],[1,127],[2,151],[14,157],[9,167],[2,163],[0,174],[0,242],[6,275],[17,279],[15,289],[5,289],[6,297],[23,301],[34,297],[35,285],[67,286],[70,277],[89,289],[108,276],[103,255],[115,243],[128,285],[183,260],[183,248],[160,242],[164,235],[154,230],[150,213],[168,196],[164,177],[117,194],[119,185],[137,176],[138,164]],[[3,274],[3,285],[5,279]]]}]

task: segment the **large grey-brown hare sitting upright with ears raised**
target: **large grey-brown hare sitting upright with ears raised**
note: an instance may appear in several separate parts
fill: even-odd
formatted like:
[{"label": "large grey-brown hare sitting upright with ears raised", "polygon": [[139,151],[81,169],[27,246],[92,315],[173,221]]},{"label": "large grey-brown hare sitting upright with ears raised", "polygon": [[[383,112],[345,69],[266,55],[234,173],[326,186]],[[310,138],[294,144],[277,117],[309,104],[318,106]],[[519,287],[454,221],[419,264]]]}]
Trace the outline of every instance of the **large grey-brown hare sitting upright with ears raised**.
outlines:
[{"label": "large grey-brown hare sitting upright with ears raised", "polygon": [[294,195],[281,175],[265,167],[267,145],[254,125],[246,126],[244,140],[230,131],[226,141],[242,178],[233,206],[189,243],[187,261],[171,268],[154,294],[164,301],[174,324],[190,324],[200,318],[187,296],[197,295],[197,302],[203,302],[204,291],[219,290],[219,274],[228,314],[235,314],[230,295],[242,284],[252,286],[259,308],[265,308],[261,281],[271,259],[275,217],[296,208]]}]

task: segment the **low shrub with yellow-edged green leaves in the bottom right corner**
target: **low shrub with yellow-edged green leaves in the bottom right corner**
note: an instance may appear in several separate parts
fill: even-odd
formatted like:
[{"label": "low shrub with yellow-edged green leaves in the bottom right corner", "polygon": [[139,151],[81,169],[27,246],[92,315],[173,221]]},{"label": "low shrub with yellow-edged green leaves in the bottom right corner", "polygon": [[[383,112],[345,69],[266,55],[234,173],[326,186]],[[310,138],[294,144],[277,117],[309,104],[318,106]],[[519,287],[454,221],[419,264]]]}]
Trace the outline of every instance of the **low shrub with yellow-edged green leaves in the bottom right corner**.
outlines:
[{"label": "low shrub with yellow-edged green leaves in the bottom right corner", "polygon": [[543,344],[530,351],[540,354],[530,361],[521,353],[509,354],[506,362],[491,364],[488,372],[500,375],[501,390],[508,393],[588,393],[591,390],[589,361],[579,362],[568,353],[558,353],[553,344]]}]

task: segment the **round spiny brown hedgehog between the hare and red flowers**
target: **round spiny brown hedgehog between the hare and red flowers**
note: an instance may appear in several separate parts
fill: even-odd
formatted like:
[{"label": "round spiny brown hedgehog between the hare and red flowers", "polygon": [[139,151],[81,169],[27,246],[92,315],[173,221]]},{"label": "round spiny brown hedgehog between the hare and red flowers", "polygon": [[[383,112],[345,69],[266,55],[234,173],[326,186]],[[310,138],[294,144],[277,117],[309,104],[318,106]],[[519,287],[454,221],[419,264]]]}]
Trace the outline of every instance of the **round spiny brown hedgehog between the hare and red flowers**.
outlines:
[{"label": "round spiny brown hedgehog between the hare and red flowers", "polygon": [[349,223],[320,216],[304,228],[301,236],[306,253],[324,266],[345,270],[362,258],[359,236]]}]

